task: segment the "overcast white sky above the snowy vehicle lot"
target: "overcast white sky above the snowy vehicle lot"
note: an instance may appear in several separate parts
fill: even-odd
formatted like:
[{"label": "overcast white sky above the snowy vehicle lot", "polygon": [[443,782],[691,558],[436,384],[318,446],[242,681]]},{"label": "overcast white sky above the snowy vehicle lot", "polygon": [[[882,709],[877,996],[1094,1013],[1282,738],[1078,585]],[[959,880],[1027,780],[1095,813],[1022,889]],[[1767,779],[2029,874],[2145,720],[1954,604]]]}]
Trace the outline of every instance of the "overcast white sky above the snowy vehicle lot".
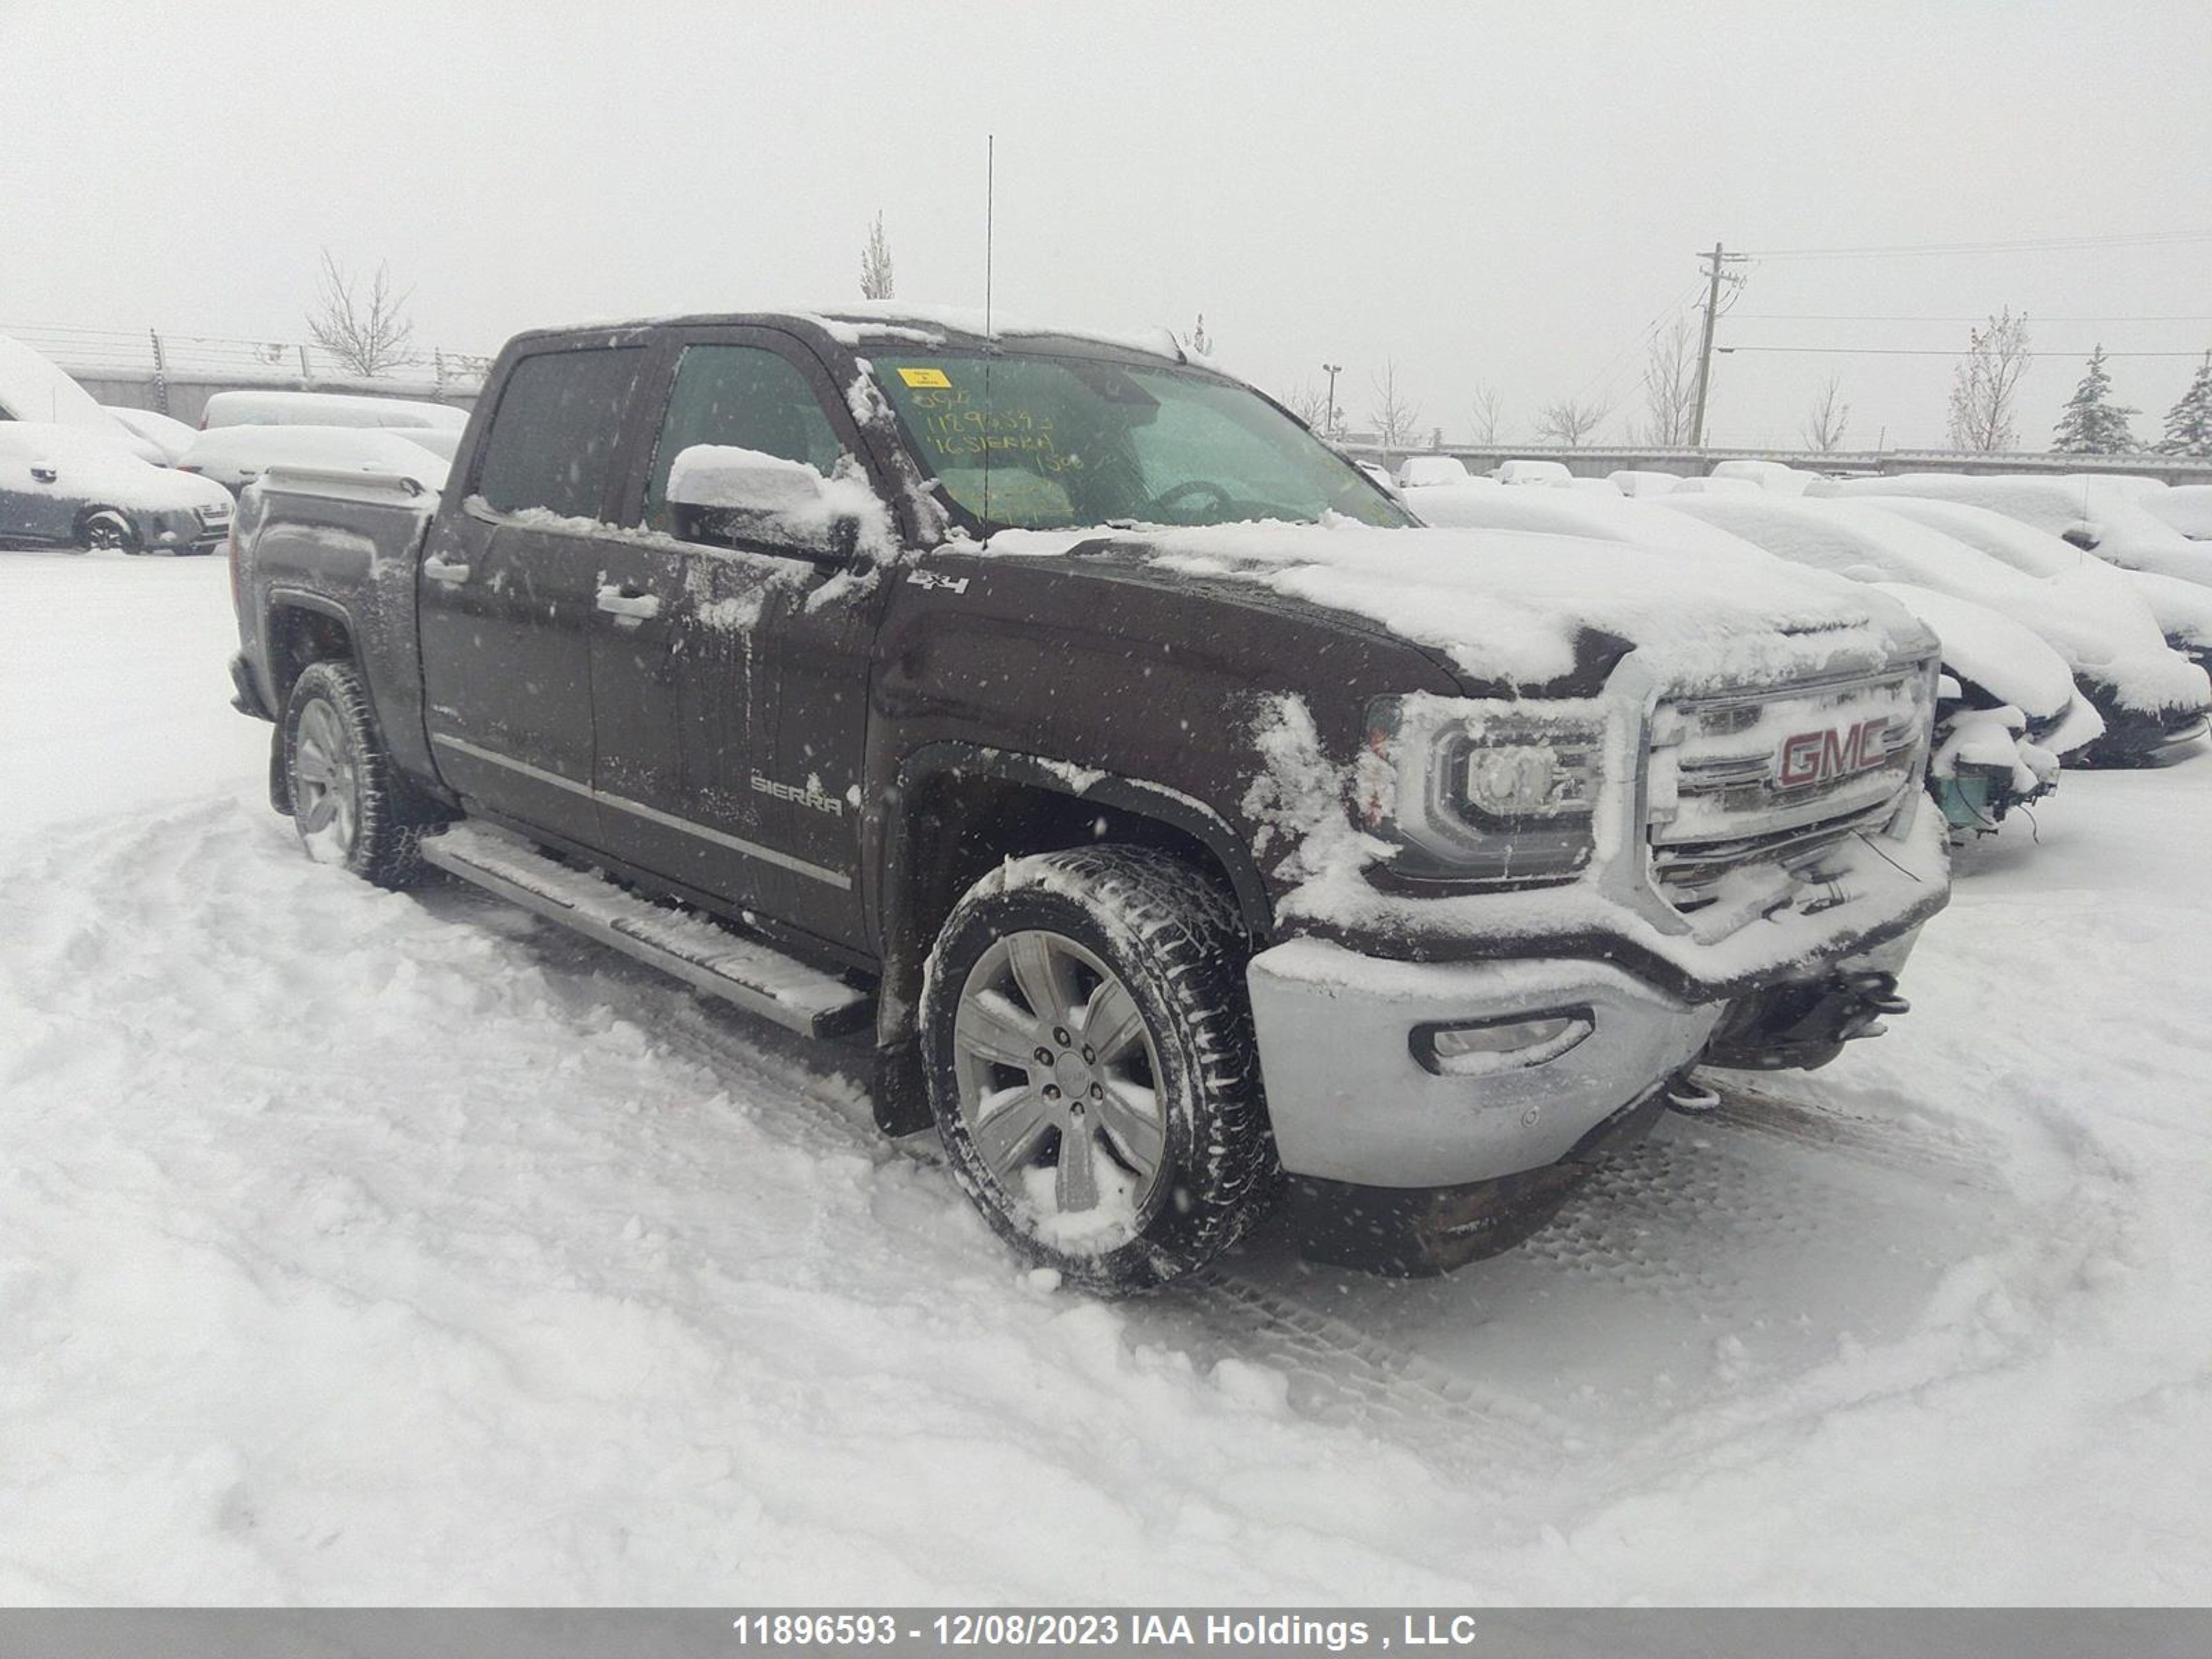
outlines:
[{"label": "overcast white sky above the snowy vehicle lot", "polygon": [[[1639,334],[1745,250],[1721,341],[1955,349],[2035,321],[2024,438],[2075,347],[2212,345],[2212,4],[347,4],[0,0],[0,330],[294,338],[316,250],[389,259],[418,341],[858,294],[1168,323],[1285,392],[1396,358],[1447,436],[1493,385],[1637,411]],[[2097,319],[2097,321],[2057,321]],[[2141,323],[2117,319],[2190,319]],[[1938,442],[1947,356],[1719,358],[1712,440]],[[2188,358],[2119,358],[2159,418]]]}]

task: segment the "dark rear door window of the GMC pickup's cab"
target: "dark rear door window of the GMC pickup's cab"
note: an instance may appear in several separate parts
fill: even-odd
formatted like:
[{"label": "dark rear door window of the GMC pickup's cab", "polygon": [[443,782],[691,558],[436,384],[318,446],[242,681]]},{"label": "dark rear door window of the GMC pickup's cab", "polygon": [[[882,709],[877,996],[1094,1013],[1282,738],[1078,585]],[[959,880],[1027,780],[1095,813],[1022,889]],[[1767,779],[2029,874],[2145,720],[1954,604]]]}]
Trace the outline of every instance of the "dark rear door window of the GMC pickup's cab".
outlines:
[{"label": "dark rear door window of the GMC pickup's cab", "polygon": [[515,363],[484,436],[476,493],[500,513],[538,507],[602,518],[622,416],[644,363],[639,345],[542,352]]}]

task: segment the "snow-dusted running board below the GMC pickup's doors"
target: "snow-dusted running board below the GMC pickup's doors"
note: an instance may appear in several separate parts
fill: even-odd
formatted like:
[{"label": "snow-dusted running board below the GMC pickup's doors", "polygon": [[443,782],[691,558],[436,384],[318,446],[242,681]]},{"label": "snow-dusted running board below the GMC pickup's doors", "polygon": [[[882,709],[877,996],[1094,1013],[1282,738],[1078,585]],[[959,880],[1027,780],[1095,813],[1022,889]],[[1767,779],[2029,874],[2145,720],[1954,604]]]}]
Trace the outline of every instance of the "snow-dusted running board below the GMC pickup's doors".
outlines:
[{"label": "snow-dusted running board below the GMC pickup's doors", "polygon": [[836,1037],[874,1015],[874,998],[836,973],[571,869],[500,830],[456,823],[422,838],[422,860],[801,1035]]}]

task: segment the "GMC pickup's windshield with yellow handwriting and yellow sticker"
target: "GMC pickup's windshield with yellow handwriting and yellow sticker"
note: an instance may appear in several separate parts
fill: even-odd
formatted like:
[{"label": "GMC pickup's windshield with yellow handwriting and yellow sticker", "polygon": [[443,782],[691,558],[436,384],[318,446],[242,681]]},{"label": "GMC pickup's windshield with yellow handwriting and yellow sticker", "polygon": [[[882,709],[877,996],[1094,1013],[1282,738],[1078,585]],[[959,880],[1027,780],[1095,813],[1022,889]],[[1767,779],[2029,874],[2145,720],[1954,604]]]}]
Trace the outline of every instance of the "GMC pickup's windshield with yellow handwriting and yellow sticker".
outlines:
[{"label": "GMC pickup's windshield with yellow handwriting and yellow sticker", "polygon": [[880,352],[876,376],[922,467],[984,533],[1323,513],[1413,522],[1296,420],[1210,374]]}]

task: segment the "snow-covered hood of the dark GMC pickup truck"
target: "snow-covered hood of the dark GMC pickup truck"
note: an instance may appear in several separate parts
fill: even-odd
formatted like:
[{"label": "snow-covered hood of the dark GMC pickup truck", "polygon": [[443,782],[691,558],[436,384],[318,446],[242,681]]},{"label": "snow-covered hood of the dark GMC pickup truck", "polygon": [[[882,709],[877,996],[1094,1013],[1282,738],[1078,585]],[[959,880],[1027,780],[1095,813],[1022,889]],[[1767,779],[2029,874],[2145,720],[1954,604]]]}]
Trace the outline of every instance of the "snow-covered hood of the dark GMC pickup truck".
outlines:
[{"label": "snow-covered hood of the dark GMC pickup truck", "polygon": [[1933,648],[1882,595],[1763,553],[1668,553],[1531,531],[1221,524],[1002,531],[993,555],[1097,560],[1148,580],[1254,584],[1380,624],[1473,686],[1537,690],[1593,637],[1644,655],[1666,686],[1774,684]]}]

